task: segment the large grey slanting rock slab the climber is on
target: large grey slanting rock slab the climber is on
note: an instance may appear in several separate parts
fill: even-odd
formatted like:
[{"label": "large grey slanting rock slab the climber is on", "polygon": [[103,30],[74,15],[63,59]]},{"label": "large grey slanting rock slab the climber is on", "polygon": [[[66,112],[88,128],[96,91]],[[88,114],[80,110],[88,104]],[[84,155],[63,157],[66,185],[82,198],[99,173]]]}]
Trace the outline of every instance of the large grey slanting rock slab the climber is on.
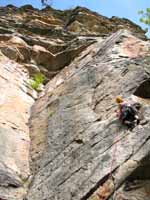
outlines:
[{"label": "large grey slanting rock slab the climber is on", "polygon": [[140,166],[149,154],[149,104],[143,103],[146,123],[130,131],[116,119],[114,100],[120,94],[140,101],[133,94],[150,78],[149,47],[119,31],[90,46],[48,83],[32,110],[35,177],[27,199],[99,199],[110,170],[108,196]]}]

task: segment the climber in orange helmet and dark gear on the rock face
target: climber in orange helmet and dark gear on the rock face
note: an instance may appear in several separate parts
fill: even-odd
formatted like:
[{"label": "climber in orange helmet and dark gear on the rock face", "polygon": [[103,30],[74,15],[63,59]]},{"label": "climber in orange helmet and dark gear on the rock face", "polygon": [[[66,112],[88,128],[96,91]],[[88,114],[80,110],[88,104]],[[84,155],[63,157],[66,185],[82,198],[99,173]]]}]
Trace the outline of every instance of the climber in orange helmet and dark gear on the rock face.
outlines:
[{"label": "climber in orange helmet and dark gear on the rock face", "polygon": [[138,111],[140,109],[140,104],[134,103],[130,104],[124,102],[121,97],[116,97],[116,102],[119,105],[119,112],[117,116],[119,117],[122,124],[128,126],[128,128],[134,128],[139,124]]}]

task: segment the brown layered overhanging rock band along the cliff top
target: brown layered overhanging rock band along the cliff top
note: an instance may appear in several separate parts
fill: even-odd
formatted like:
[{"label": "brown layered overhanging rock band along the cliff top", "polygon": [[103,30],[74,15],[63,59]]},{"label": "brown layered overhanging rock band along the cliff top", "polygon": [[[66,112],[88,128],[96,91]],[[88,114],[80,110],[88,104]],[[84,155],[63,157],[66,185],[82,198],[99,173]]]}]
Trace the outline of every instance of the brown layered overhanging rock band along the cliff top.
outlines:
[{"label": "brown layered overhanging rock band along the cliff top", "polygon": [[2,53],[23,63],[31,76],[37,71],[43,73],[46,82],[96,42],[98,36],[106,37],[126,28],[145,38],[145,32],[127,19],[109,19],[82,7],[60,11],[8,5],[0,7],[0,16]]}]

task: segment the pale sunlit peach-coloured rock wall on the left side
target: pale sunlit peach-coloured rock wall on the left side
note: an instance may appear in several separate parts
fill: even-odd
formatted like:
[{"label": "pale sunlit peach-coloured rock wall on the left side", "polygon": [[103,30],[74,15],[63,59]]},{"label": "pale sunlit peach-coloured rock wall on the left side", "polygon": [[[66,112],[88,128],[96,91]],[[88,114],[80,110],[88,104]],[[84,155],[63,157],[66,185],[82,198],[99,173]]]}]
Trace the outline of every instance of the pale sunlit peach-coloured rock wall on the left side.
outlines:
[{"label": "pale sunlit peach-coloured rock wall on the left side", "polygon": [[34,98],[28,93],[28,78],[22,65],[0,54],[1,199],[22,199],[30,176],[28,119]]}]

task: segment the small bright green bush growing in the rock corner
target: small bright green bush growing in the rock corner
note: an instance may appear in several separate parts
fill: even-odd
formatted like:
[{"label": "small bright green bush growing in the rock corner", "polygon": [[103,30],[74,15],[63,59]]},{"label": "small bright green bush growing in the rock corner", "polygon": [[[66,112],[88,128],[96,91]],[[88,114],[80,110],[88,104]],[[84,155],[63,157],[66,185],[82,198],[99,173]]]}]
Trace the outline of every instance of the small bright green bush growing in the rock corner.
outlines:
[{"label": "small bright green bush growing in the rock corner", "polygon": [[42,73],[34,74],[29,84],[34,90],[38,90],[39,86],[44,82],[45,76]]}]

